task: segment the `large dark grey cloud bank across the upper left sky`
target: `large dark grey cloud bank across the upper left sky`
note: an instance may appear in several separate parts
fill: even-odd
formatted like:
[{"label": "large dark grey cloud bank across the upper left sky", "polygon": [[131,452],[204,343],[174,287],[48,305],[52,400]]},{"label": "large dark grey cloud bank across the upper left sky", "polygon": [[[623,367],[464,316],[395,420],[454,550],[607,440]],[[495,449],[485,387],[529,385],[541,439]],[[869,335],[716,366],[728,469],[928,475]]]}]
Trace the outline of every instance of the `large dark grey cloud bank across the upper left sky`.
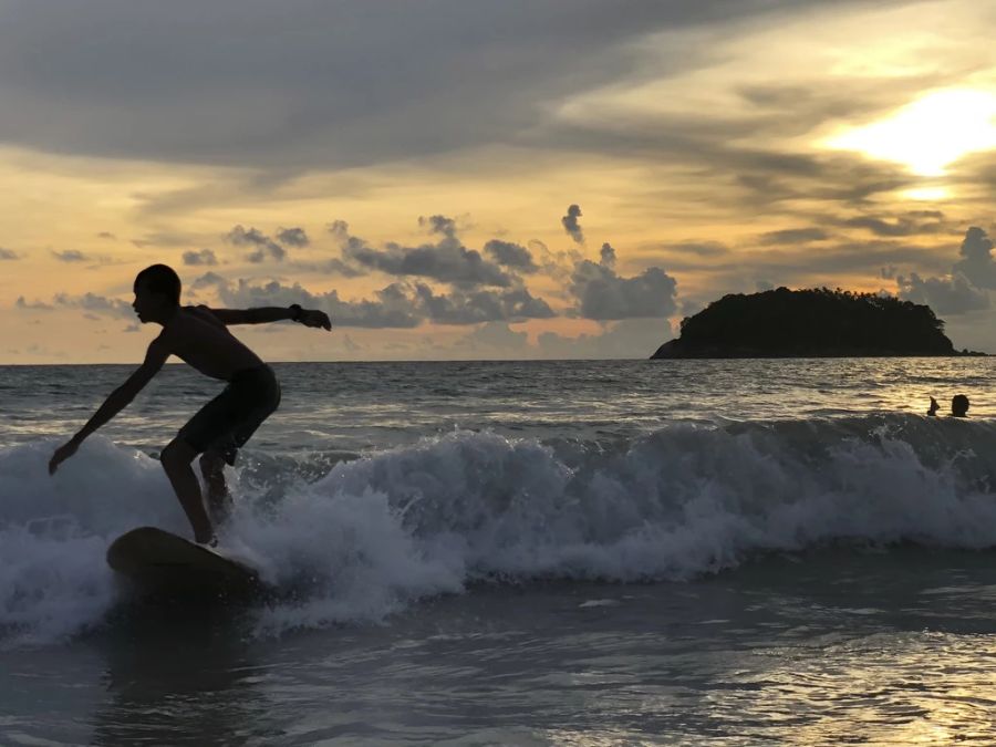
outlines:
[{"label": "large dark grey cloud bank across the upper left sky", "polygon": [[[724,3],[723,18],[779,4]],[[378,7],[14,3],[0,17],[0,139],[295,172],[505,143],[548,102],[631,71],[646,34],[717,14],[657,0]],[[134,50],[142,64],[122,64]],[[687,56],[668,55],[668,72]]]}]

